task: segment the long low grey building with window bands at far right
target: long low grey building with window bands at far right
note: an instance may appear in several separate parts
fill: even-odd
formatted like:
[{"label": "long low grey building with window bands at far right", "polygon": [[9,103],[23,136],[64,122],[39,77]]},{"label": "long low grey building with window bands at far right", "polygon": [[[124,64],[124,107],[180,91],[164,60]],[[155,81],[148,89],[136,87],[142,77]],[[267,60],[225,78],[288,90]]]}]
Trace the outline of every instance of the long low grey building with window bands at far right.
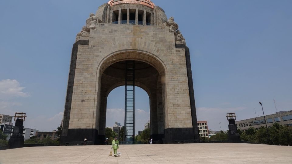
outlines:
[{"label": "long low grey building with window bands at far right", "polygon": [[260,128],[262,126],[268,127],[272,126],[273,123],[278,122],[281,125],[292,126],[292,111],[280,111],[274,114],[266,115],[266,120],[264,116],[257,118],[249,118],[246,120],[235,121],[237,128],[241,130],[246,130],[249,127]]}]

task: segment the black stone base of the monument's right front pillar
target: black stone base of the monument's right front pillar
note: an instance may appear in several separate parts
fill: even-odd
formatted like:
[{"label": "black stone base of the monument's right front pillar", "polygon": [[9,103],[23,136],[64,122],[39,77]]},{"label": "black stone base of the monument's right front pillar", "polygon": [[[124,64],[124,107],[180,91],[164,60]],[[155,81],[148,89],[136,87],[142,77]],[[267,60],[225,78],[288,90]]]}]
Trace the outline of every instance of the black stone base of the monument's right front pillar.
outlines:
[{"label": "black stone base of the monument's right front pillar", "polygon": [[164,142],[170,143],[198,143],[193,128],[167,128],[164,130]]}]

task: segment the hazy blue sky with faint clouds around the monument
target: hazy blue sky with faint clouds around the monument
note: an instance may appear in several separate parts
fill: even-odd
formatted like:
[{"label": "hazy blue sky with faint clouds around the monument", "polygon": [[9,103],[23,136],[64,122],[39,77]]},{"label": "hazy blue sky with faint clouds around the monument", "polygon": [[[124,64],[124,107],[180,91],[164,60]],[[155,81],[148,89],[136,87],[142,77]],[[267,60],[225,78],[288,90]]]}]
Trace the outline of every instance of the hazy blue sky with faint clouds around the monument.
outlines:
[{"label": "hazy blue sky with faint clouds around the monument", "polygon": [[[106,2],[0,2],[0,113],[24,111],[25,126],[44,131],[61,123],[75,36],[89,13]],[[278,111],[291,110],[292,1],[153,2],[174,16],[186,38],[197,117],[208,121],[209,129],[220,130],[219,122],[228,129],[228,112],[240,120],[254,117],[256,108],[261,116],[259,101],[265,114],[272,114],[273,97]],[[149,115],[147,94],[138,89],[136,96],[137,109]],[[108,109],[123,109],[123,88],[108,101]],[[106,126],[117,118],[112,119]]]}]

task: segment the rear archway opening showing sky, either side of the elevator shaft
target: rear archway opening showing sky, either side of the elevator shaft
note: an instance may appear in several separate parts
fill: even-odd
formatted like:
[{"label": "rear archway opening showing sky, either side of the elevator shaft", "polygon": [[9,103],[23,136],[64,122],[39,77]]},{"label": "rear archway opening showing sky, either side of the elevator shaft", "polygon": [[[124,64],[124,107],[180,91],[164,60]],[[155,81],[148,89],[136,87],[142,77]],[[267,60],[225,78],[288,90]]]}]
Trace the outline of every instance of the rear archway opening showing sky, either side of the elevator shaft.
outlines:
[{"label": "rear archway opening showing sky, either side of the elevator shaft", "polygon": [[[109,143],[117,136],[123,141],[123,126],[125,122],[125,86],[116,87],[107,97],[106,107],[106,138]],[[143,131],[150,121],[150,102],[146,91],[135,87],[135,136]]]}]

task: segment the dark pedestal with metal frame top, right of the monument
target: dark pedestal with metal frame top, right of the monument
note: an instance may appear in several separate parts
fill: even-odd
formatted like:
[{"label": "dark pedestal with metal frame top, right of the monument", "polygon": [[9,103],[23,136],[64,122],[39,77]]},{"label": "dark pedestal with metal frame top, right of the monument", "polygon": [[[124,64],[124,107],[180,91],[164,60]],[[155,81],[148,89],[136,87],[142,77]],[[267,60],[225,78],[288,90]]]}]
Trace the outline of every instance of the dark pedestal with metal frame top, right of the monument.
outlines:
[{"label": "dark pedestal with metal frame top, right of the monument", "polygon": [[237,127],[235,125],[236,115],[235,113],[227,113],[226,114],[227,120],[229,122],[228,129],[228,141],[233,143],[240,143],[240,135],[237,132]]}]

